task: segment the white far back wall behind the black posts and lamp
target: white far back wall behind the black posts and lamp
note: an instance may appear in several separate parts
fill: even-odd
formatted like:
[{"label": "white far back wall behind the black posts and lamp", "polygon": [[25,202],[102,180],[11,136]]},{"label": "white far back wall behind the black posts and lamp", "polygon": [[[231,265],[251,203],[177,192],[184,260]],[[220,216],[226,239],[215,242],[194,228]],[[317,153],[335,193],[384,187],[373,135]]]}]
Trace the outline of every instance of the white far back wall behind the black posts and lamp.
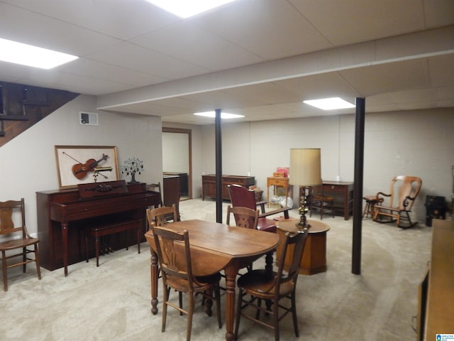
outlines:
[{"label": "white far back wall behind the black posts and lamp", "polygon": [[[214,173],[214,125],[203,126],[202,132],[201,169]],[[451,200],[453,132],[452,108],[366,113],[364,194],[389,193],[395,175],[419,176],[423,187],[414,212],[423,221],[426,195]],[[354,115],[223,123],[221,135],[223,174],[247,175],[250,171],[265,195],[267,177],[277,167],[289,166],[290,148],[321,148],[322,178],[335,180],[339,175],[342,181],[353,181]],[[294,202],[298,202],[297,190],[294,192]]]}]

